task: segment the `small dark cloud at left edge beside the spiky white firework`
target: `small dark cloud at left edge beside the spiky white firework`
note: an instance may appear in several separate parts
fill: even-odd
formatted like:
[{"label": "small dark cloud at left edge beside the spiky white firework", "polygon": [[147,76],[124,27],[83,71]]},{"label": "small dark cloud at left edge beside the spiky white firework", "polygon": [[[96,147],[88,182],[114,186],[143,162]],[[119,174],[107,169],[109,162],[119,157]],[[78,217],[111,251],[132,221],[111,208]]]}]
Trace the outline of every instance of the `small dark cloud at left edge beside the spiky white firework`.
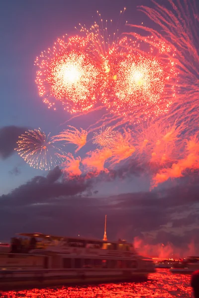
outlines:
[{"label": "small dark cloud at left edge beside the spiky white firework", "polygon": [[25,127],[4,126],[0,128],[0,157],[6,159],[16,148],[18,137],[27,129]]}]

